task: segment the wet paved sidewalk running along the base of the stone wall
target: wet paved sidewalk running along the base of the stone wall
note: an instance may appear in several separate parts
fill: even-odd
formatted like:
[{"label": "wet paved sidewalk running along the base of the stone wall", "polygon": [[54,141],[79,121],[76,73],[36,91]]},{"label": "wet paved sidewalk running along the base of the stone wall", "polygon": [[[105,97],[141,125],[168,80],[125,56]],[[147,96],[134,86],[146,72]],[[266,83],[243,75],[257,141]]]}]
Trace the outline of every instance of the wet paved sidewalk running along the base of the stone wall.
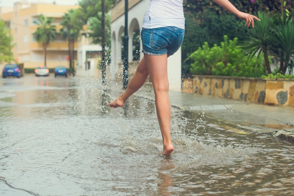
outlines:
[{"label": "wet paved sidewalk running along the base of the stone wall", "polygon": [[[107,86],[123,92],[122,86],[120,88],[111,82]],[[154,100],[151,84],[144,85],[134,95]],[[294,130],[294,108],[292,107],[263,105],[172,90],[169,91],[169,97],[173,107],[204,113],[205,116],[213,118],[216,123],[226,123],[249,132],[273,134],[280,130]]]}]

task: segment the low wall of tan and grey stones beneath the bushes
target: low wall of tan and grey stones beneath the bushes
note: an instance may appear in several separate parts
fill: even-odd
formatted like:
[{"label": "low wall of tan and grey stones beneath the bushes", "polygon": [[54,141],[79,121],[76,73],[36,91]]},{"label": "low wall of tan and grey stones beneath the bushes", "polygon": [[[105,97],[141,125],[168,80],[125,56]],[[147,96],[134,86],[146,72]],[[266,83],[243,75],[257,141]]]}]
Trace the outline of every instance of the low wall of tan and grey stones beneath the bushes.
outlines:
[{"label": "low wall of tan and grey stones beneath the bushes", "polygon": [[193,75],[182,90],[199,95],[294,107],[294,79]]}]

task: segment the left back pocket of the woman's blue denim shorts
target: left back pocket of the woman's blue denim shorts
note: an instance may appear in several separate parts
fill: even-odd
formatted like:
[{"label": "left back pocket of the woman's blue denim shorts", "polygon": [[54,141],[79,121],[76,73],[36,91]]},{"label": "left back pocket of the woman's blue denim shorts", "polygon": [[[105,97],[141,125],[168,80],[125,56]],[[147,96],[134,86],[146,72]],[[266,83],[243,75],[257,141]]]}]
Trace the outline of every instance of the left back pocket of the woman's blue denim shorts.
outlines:
[{"label": "left back pocket of the woman's blue denim shorts", "polygon": [[168,46],[169,31],[161,29],[151,29],[149,45],[154,49],[162,49]]}]

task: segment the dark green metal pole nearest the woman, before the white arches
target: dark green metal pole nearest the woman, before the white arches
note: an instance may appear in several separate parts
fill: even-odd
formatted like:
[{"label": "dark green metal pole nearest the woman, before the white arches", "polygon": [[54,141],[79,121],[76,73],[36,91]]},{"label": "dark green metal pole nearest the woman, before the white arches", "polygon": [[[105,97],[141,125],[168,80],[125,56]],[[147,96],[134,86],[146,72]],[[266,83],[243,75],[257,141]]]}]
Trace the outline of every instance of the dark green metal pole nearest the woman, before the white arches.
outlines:
[{"label": "dark green metal pole nearest the woman, before the white arches", "polygon": [[125,0],[124,5],[124,84],[123,89],[126,89],[129,83],[129,37],[128,37],[128,0]]}]

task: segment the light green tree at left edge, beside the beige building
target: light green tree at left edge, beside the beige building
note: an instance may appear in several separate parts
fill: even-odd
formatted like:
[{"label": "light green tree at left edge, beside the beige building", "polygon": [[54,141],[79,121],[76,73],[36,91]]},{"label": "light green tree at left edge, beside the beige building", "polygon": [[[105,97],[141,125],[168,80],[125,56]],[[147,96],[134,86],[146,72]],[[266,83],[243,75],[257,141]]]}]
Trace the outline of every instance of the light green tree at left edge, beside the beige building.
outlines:
[{"label": "light green tree at left edge, beside the beige building", "polygon": [[10,46],[12,37],[9,36],[9,28],[5,25],[3,20],[0,20],[0,37],[0,63],[15,61]]}]

